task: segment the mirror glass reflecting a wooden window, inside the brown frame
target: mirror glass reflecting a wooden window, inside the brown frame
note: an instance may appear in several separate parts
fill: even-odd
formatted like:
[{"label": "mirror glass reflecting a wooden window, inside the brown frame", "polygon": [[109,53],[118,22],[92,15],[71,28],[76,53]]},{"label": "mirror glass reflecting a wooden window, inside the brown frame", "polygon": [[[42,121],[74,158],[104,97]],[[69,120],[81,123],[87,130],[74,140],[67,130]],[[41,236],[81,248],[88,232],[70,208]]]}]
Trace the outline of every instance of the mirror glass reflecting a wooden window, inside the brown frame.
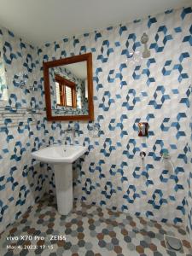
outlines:
[{"label": "mirror glass reflecting a wooden window, inside the brown frame", "polygon": [[49,68],[52,115],[87,115],[87,62]]}]

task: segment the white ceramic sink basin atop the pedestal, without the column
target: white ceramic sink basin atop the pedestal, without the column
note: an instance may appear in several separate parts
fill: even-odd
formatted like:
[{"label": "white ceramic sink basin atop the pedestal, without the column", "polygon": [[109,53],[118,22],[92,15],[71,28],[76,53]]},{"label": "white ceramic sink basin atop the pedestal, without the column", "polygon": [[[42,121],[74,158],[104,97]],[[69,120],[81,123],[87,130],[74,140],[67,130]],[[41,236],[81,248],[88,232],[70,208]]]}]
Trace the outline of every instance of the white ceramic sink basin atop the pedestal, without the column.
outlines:
[{"label": "white ceramic sink basin atop the pedestal, without the column", "polygon": [[54,145],[32,152],[32,157],[45,163],[73,163],[86,151],[83,146]]}]

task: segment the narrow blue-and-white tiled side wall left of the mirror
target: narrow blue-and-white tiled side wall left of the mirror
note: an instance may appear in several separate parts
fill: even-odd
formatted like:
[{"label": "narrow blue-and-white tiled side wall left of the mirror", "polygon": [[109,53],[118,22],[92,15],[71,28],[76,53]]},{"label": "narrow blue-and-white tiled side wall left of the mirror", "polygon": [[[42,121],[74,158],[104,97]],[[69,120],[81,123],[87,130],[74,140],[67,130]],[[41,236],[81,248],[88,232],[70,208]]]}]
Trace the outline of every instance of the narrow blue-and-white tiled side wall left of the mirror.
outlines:
[{"label": "narrow blue-and-white tiled side wall left of the mirror", "polygon": [[[38,80],[37,49],[3,28],[0,29],[0,41],[8,84],[8,101],[0,102],[1,233],[46,191],[47,166],[34,163],[31,152],[44,145],[47,131],[42,115],[25,114],[23,109],[42,108],[44,102],[42,81]],[[19,73],[28,77],[26,89],[19,88]],[[34,86],[34,91],[28,90],[29,86]],[[8,110],[9,114],[2,116],[5,108],[18,108],[17,112],[24,114]]]}]

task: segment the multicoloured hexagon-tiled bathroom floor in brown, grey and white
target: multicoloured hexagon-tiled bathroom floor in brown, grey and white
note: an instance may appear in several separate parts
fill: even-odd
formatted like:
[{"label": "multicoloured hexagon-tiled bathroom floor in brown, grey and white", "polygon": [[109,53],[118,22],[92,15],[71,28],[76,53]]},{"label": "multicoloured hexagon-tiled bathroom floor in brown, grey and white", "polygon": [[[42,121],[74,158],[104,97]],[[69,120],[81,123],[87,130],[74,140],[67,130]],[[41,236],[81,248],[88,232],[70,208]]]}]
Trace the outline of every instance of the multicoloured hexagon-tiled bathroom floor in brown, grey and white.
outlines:
[{"label": "multicoloured hexagon-tiled bathroom floor in brown, grey and white", "polygon": [[61,216],[55,198],[46,196],[9,226],[0,247],[3,256],[183,255],[166,250],[164,234],[181,239],[186,255],[192,255],[180,227],[80,202],[74,203],[70,214]]}]

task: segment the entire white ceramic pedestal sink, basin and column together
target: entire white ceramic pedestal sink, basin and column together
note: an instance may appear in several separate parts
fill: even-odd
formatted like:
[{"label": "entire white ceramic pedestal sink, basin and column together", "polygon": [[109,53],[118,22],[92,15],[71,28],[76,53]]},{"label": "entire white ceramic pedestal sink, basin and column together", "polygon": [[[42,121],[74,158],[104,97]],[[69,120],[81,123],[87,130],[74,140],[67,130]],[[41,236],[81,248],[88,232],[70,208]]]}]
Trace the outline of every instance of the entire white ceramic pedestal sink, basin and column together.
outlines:
[{"label": "entire white ceramic pedestal sink, basin and column together", "polygon": [[67,215],[73,208],[72,163],[87,151],[87,147],[54,145],[32,152],[32,158],[54,167],[58,212]]}]

